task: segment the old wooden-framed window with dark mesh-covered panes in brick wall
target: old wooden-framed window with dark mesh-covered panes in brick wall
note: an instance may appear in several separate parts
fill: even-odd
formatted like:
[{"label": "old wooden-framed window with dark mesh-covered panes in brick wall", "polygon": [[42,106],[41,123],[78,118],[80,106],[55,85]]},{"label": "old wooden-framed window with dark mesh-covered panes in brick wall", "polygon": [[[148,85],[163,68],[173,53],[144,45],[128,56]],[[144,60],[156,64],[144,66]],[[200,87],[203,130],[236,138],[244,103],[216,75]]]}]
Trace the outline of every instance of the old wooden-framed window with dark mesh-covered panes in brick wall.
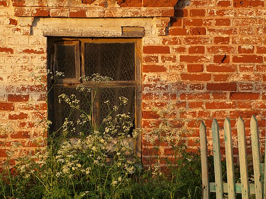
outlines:
[{"label": "old wooden-framed window with dark mesh-covered panes in brick wall", "polygon": [[[60,71],[64,77],[50,82],[49,118],[53,121],[53,130],[63,125],[65,118],[74,122],[75,133],[81,127],[77,122],[82,115],[78,109],[72,110],[64,103],[59,103],[58,96],[75,94],[79,100],[80,109],[91,113],[93,126],[99,126],[108,115],[108,104],[119,104],[119,97],[124,96],[128,103],[111,115],[129,113],[135,127],[140,126],[140,41],[139,39],[49,39],[49,54],[51,71]],[[112,80],[106,82],[84,81],[82,77],[92,77],[95,73],[107,76]],[[90,94],[79,92],[76,87],[84,86],[92,89]],[[93,103],[92,103],[93,102]],[[84,128],[84,127],[82,127]],[[92,127],[85,126],[90,132]],[[129,133],[130,133],[129,131]]]}]

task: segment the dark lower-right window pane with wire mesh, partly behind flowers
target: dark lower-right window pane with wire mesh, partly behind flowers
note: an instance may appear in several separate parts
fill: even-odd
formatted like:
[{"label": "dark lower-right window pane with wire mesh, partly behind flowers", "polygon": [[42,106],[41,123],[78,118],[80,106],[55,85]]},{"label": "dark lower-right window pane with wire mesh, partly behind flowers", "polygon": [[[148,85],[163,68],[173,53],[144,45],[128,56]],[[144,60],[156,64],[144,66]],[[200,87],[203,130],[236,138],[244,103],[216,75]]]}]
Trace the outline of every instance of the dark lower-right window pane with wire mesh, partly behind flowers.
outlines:
[{"label": "dark lower-right window pane with wire mesh, partly behind flowers", "polygon": [[[113,111],[113,106],[119,106],[121,104],[121,101],[119,99],[120,96],[124,96],[128,99],[128,102],[126,105],[120,106],[120,108],[117,111]],[[109,101],[109,103],[106,103],[106,101]],[[102,124],[103,119],[107,116],[111,116],[114,122],[114,125],[116,124],[115,118],[117,114],[128,114],[130,118],[128,121],[131,121],[133,125],[135,126],[135,87],[109,87],[109,88],[101,88],[100,89],[100,123]],[[110,111],[113,111],[110,114]],[[132,130],[135,127],[131,127],[129,132],[126,132],[127,134],[131,134]],[[122,132],[122,128],[118,128],[119,132]],[[115,136],[115,135],[114,135]]]}]

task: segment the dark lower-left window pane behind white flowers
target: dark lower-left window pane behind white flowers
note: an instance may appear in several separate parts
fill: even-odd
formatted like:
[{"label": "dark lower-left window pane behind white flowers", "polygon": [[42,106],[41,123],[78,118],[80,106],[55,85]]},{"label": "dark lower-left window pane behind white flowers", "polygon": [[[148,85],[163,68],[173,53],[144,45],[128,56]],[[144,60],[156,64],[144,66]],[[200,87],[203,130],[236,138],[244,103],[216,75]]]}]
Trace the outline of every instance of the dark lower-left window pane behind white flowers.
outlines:
[{"label": "dark lower-left window pane behind white flowers", "polygon": [[[59,103],[59,95],[62,93],[70,96],[74,94],[76,99],[80,101],[78,104],[80,106],[80,110],[73,109],[71,106],[64,101]],[[84,134],[90,134],[91,132],[91,93],[84,94],[78,91],[73,87],[55,87],[55,95],[54,95],[54,103],[55,103],[55,130],[59,130],[65,121],[65,118],[68,118],[68,121],[72,121],[75,132],[72,134],[74,136],[78,135],[79,132]],[[71,97],[70,97],[71,98]],[[84,112],[83,112],[84,111]],[[88,117],[90,115],[90,117]],[[78,122],[78,120],[82,122]],[[69,131],[73,130],[73,127],[69,128]],[[62,129],[59,130],[59,133],[62,133]]]}]

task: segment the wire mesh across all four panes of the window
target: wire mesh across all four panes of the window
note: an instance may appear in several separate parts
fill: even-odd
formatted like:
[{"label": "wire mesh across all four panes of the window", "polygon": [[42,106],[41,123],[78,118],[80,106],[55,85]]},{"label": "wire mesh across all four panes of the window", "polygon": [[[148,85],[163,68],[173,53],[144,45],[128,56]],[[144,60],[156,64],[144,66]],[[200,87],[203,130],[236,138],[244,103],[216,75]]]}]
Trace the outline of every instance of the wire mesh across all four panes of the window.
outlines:
[{"label": "wire mesh across all four panes of the window", "polygon": [[[57,70],[64,72],[64,79],[75,79],[76,71],[76,47],[75,45],[57,45]],[[81,69],[83,70],[83,69]],[[84,70],[86,76],[92,76],[94,73],[100,73],[102,76],[112,78],[114,81],[135,81],[135,43],[85,43],[84,44]],[[79,74],[78,74],[79,75]],[[76,87],[68,85],[57,85],[54,89],[54,126],[55,130],[62,132],[62,126],[65,118],[74,123],[75,131],[73,136],[79,132],[90,134],[92,131],[92,121],[99,121],[97,126],[101,125],[103,119],[109,115],[113,106],[119,106],[119,97],[128,98],[128,103],[114,111],[111,116],[115,121],[117,114],[126,113],[130,115],[130,121],[135,125],[135,86],[125,87],[123,83],[116,83],[117,86],[107,87],[97,85],[99,89],[95,102],[92,103],[92,94],[86,94],[78,91]],[[80,109],[73,109],[67,103],[58,101],[60,94],[74,94],[79,100]],[[104,103],[109,101],[108,104]],[[96,108],[97,107],[97,108]],[[93,110],[94,109],[94,110]],[[83,112],[84,111],[84,112]],[[86,117],[84,117],[86,115]],[[90,121],[80,122],[90,118]],[[95,120],[94,120],[95,119]],[[94,123],[94,125],[96,125]],[[102,126],[103,127],[103,126]],[[104,128],[104,127],[103,127]],[[129,134],[135,128],[130,129]],[[69,129],[71,131],[71,129]],[[122,130],[121,130],[122,131]]]}]

